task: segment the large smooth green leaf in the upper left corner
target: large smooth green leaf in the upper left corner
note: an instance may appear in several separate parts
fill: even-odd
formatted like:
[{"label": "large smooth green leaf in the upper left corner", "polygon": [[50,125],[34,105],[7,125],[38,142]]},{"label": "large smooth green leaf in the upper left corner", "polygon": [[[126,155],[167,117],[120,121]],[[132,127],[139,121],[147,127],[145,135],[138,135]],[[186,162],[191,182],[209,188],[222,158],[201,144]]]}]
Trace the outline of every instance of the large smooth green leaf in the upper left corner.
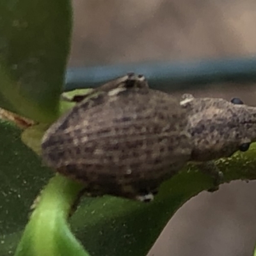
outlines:
[{"label": "large smooth green leaf in the upper left corner", "polygon": [[55,120],[70,46],[70,1],[1,0],[0,20],[0,107]]}]

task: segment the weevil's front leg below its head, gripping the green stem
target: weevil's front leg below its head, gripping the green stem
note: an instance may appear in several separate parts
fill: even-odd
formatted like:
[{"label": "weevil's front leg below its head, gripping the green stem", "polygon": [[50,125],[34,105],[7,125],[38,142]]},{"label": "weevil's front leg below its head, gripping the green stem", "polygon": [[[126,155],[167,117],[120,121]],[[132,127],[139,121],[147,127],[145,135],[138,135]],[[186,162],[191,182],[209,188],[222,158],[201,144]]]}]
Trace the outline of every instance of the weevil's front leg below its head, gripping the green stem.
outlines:
[{"label": "weevil's front leg below its head, gripping the green stem", "polygon": [[198,168],[205,174],[211,175],[214,179],[214,186],[208,189],[209,192],[214,192],[219,189],[219,186],[223,180],[223,173],[220,172],[219,168],[214,164],[213,161],[198,164]]}]

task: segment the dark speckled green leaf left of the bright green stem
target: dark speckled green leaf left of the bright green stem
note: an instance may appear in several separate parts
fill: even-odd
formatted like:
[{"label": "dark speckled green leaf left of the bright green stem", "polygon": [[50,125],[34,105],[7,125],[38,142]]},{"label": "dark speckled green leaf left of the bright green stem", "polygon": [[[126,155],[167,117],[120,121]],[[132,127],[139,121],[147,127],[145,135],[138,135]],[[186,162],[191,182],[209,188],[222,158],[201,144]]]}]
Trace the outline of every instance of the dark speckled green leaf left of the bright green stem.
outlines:
[{"label": "dark speckled green leaf left of the bright green stem", "polygon": [[20,141],[20,129],[0,120],[0,255],[12,255],[28,221],[30,207],[52,176]]}]

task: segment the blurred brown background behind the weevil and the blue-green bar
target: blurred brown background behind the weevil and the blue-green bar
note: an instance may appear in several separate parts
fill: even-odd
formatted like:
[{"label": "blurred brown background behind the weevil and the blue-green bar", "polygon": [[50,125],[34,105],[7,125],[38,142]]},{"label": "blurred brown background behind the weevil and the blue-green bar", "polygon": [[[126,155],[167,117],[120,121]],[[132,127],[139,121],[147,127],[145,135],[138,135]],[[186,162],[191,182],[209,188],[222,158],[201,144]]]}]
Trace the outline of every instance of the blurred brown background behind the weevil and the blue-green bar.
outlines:
[{"label": "blurred brown background behind the weevil and the blue-green bar", "polygon": [[[255,0],[74,0],[73,4],[73,67],[256,53]],[[211,85],[190,92],[240,97],[256,106],[256,84],[226,85],[222,90]],[[179,209],[148,255],[253,255],[255,195],[252,181],[201,193]]]}]

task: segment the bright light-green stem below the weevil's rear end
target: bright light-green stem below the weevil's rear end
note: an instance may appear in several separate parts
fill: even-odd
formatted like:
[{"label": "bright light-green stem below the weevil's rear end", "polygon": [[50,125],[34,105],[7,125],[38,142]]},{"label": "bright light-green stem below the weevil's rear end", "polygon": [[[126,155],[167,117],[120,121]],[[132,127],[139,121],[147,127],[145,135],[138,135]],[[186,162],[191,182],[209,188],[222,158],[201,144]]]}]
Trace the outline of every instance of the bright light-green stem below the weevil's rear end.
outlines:
[{"label": "bright light-green stem below the weevil's rear end", "polygon": [[70,209],[83,189],[56,175],[42,191],[15,256],[89,256],[68,227]]}]

